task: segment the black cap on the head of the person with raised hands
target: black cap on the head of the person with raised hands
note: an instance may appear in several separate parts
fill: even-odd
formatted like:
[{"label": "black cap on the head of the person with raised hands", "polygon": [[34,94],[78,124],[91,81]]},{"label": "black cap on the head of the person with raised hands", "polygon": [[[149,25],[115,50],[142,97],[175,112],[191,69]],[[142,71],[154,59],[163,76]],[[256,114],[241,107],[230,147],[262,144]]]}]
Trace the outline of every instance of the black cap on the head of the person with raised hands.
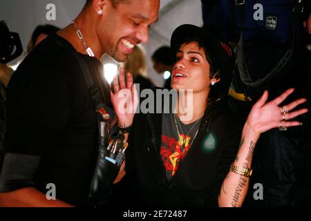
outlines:
[{"label": "black cap on the head of the person with raised hands", "polygon": [[218,94],[227,95],[232,81],[232,52],[227,52],[220,41],[206,28],[200,28],[191,24],[183,24],[173,31],[171,36],[171,50],[176,55],[182,44],[189,39],[202,39],[207,46],[209,54],[216,59],[216,66],[220,69],[220,82],[213,86]]}]

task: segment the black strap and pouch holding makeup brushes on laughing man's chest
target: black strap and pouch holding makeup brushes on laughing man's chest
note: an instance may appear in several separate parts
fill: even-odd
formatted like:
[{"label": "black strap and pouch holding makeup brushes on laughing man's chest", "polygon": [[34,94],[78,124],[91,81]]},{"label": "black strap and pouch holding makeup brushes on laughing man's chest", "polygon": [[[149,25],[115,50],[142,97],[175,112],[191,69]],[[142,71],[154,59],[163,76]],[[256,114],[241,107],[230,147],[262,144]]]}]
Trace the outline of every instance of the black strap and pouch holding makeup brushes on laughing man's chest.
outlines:
[{"label": "black strap and pouch holding makeup brushes on laughing man's chest", "polygon": [[62,42],[60,37],[56,36],[54,39],[72,52],[84,75],[88,93],[91,99],[93,99],[93,105],[97,115],[99,139],[97,143],[97,162],[88,196],[94,206],[100,206],[109,202],[112,184],[120,171],[120,166],[124,162],[128,143],[124,142],[124,135],[122,133],[119,133],[115,138],[110,136],[110,123],[113,122],[114,115],[113,110],[105,105],[104,95],[102,95],[100,88],[94,84],[91,72],[84,58],[69,43],[66,41]]}]

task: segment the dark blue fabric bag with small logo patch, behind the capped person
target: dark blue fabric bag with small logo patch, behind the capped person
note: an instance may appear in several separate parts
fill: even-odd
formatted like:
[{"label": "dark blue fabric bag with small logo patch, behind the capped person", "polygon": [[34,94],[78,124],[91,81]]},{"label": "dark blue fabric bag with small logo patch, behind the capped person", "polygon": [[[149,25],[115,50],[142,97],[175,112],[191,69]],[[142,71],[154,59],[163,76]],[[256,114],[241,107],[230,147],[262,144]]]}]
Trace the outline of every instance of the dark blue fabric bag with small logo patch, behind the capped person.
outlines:
[{"label": "dark blue fabric bag with small logo patch, behind the capped person", "polygon": [[[254,5],[263,6],[263,20],[255,20]],[[244,41],[262,40],[272,44],[290,44],[292,39],[292,19],[294,0],[247,0],[245,1]],[[234,10],[232,10],[234,8]],[[218,0],[210,3],[202,0],[202,17],[206,27],[213,28],[223,41],[236,41],[236,26],[238,35],[241,32],[241,6],[235,1]],[[266,16],[277,17],[276,30],[267,30]],[[236,25],[234,20],[236,17]]]}]

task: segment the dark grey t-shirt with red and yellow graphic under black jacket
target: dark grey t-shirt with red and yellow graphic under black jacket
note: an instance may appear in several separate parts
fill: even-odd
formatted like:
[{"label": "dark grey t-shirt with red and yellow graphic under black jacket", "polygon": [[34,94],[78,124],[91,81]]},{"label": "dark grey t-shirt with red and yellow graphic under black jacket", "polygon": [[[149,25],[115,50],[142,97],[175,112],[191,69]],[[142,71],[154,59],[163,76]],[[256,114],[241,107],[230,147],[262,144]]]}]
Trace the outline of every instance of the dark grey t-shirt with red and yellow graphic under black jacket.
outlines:
[{"label": "dark grey t-shirt with red and yellow graphic under black jacket", "polygon": [[176,175],[185,159],[195,139],[201,119],[191,124],[183,124],[171,113],[162,115],[160,156],[167,171],[168,182],[171,182],[171,178]]}]

